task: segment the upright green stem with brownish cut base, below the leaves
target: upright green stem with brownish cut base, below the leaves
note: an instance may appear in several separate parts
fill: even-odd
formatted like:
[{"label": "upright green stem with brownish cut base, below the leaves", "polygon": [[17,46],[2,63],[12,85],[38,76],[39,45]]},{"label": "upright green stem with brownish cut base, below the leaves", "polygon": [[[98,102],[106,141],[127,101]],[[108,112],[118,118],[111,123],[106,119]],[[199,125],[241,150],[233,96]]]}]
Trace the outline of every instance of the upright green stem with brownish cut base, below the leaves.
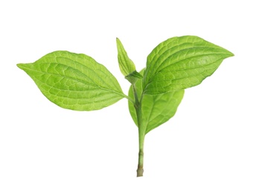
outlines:
[{"label": "upright green stem with brownish cut base, below the leaves", "polygon": [[141,102],[138,101],[138,94],[135,88],[135,85],[132,85],[132,90],[135,96],[135,110],[137,114],[138,121],[138,169],[137,169],[137,177],[143,176],[143,161],[144,161],[144,137],[145,137],[145,129],[142,122],[142,112],[141,112]]}]

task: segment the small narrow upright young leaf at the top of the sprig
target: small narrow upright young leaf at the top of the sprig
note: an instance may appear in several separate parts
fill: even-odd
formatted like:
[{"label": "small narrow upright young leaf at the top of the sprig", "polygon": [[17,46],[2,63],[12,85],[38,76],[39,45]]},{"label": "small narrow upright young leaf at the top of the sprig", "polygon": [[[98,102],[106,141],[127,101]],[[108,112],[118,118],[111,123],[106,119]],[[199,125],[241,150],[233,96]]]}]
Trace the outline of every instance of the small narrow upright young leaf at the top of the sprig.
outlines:
[{"label": "small narrow upright young leaf at the top of the sprig", "polygon": [[129,59],[127,51],[124,50],[124,46],[118,38],[116,39],[116,44],[118,47],[118,63],[120,71],[124,76],[127,76],[135,71],[135,65],[132,60]]}]

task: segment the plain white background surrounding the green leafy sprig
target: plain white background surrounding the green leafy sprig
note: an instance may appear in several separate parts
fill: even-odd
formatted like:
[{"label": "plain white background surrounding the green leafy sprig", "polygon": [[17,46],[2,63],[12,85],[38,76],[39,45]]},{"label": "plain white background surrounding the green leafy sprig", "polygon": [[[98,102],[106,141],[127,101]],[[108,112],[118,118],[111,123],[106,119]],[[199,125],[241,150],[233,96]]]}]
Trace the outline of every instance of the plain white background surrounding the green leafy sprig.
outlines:
[{"label": "plain white background surrounding the green leafy sprig", "polygon": [[[0,192],[256,192],[253,1],[1,1]],[[138,131],[127,100],[70,111],[17,63],[54,50],[86,53],[127,93],[115,38],[138,71],[160,42],[196,35],[235,54],[189,88],[172,120]]]}]

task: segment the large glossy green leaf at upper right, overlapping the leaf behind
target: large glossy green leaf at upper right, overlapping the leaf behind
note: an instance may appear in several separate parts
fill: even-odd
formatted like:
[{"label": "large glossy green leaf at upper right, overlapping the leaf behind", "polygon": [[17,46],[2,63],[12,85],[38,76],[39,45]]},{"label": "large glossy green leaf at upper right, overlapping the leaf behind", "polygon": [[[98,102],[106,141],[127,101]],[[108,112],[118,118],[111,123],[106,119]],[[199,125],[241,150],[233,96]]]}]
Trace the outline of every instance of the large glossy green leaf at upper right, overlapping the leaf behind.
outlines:
[{"label": "large glossy green leaf at upper right, overlapping the leaf behind", "polygon": [[199,85],[233,53],[197,36],[161,42],[147,57],[144,94],[162,94]]}]

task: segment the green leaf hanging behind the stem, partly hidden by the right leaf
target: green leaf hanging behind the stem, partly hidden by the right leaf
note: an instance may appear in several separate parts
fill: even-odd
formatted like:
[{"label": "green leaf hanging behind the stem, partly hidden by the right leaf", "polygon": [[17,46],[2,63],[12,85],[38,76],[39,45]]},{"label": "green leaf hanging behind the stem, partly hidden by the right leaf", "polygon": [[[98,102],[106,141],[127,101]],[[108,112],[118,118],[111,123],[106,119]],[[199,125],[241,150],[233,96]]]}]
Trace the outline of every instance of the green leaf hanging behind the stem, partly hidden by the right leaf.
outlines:
[{"label": "green leaf hanging behind the stem, partly hidden by the right leaf", "polygon": [[[142,74],[144,70],[140,73]],[[142,79],[135,83],[138,98],[142,94]],[[141,111],[144,124],[147,125],[146,133],[170,120],[177,111],[179,103],[182,101],[184,90],[171,91],[165,94],[144,95],[141,101]],[[132,86],[129,88],[129,96],[134,99]],[[137,115],[132,102],[129,102],[129,113],[132,120],[138,126]]]}]

